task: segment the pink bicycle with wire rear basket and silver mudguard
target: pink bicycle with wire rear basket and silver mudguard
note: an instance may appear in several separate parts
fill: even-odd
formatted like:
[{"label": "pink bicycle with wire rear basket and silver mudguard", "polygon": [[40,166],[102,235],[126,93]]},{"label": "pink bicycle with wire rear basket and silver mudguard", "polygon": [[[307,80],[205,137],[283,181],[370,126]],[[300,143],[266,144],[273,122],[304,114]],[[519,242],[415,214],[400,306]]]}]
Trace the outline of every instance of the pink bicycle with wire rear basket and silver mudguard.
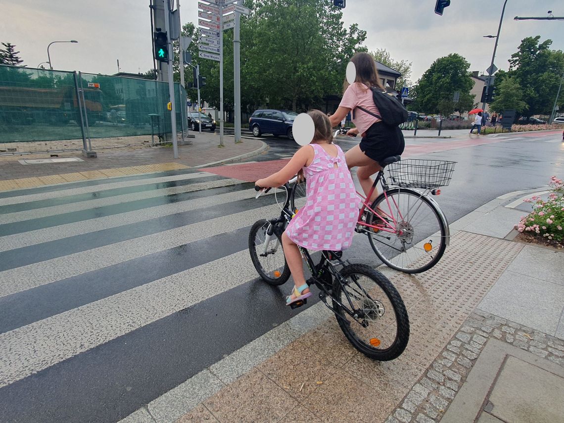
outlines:
[{"label": "pink bicycle with wire rear basket and silver mudguard", "polygon": [[[374,253],[386,266],[420,273],[438,263],[450,241],[447,219],[430,195],[439,195],[438,188],[450,183],[456,162],[400,160],[400,156],[393,156],[381,162],[382,170],[368,198],[378,183],[381,193],[372,204],[357,192],[363,206],[356,232],[368,236]],[[292,188],[290,206],[298,210],[305,202],[306,183],[296,182]]]}]

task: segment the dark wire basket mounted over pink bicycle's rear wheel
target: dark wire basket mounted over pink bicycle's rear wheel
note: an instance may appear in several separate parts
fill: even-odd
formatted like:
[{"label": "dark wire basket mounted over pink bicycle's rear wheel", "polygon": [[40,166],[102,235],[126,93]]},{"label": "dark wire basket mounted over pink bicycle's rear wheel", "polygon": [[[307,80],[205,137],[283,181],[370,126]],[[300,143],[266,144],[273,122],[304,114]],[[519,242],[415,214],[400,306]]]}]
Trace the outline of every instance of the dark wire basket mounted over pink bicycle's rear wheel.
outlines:
[{"label": "dark wire basket mounted over pink bicycle's rear wheel", "polygon": [[433,190],[451,182],[455,161],[407,158],[387,165],[388,182],[403,188]]}]

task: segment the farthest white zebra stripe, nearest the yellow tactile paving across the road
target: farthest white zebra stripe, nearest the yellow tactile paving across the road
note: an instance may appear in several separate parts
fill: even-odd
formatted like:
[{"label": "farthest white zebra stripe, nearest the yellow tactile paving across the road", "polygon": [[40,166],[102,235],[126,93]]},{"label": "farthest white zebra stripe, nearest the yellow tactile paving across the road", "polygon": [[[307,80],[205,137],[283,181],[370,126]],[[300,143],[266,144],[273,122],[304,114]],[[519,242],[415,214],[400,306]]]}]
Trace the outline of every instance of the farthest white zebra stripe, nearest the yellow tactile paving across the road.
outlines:
[{"label": "farthest white zebra stripe, nearest the yellow tactile paving across the road", "polygon": [[88,187],[81,188],[69,188],[68,190],[57,190],[48,192],[39,192],[35,194],[23,194],[16,197],[7,197],[5,199],[0,199],[0,206],[10,205],[10,204],[20,204],[22,202],[38,201],[38,200],[50,200],[60,197],[68,197],[71,195],[87,194],[90,192],[98,192],[105,190],[113,190],[114,188],[127,188],[136,187],[140,185],[155,184],[161,182],[171,182],[173,180],[184,180],[184,179],[194,179],[194,178],[204,178],[215,176],[213,173],[209,172],[199,172],[184,175],[173,175],[169,177],[161,178],[146,178],[138,180],[126,180],[125,182],[108,182],[104,184],[91,185]]}]

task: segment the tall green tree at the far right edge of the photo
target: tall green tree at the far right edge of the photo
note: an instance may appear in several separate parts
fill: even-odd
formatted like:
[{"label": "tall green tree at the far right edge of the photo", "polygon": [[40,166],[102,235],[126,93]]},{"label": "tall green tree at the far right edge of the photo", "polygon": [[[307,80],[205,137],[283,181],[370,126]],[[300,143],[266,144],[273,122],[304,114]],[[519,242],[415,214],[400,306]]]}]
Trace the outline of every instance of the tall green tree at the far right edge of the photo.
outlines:
[{"label": "tall green tree at the far right edge of the photo", "polygon": [[550,39],[539,41],[540,36],[524,38],[511,56],[507,72],[508,77],[514,77],[521,86],[522,100],[528,106],[527,117],[552,111],[564,70],[562,51],[550,50]]}]

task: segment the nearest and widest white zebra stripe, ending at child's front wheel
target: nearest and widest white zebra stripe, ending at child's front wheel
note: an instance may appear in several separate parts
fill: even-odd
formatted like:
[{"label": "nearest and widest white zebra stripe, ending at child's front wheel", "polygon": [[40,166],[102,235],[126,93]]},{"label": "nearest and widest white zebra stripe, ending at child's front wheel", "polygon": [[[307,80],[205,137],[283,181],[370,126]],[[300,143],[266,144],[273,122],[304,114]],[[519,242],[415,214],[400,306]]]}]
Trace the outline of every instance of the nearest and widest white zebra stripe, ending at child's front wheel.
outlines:
[{"label": "nearest and widest white zebra stripe, ending at child's front wheel", "polygon": [[0,334],[0,387],[255,277],[243,250]]}]

